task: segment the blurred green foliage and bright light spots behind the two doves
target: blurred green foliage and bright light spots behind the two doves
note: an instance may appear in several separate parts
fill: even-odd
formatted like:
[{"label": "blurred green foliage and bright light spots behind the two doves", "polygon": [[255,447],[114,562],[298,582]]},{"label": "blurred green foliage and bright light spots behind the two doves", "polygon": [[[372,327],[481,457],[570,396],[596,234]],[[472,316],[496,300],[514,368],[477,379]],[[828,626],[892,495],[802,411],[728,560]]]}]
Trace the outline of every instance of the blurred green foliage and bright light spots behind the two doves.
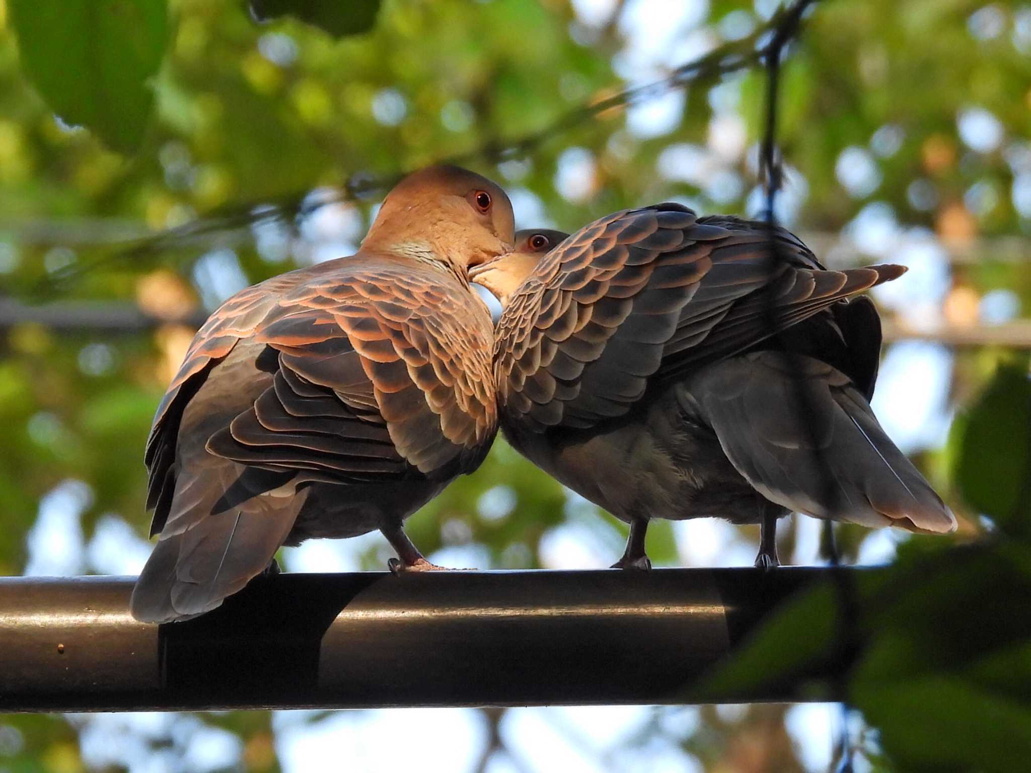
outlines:
[{"label": "blurred green foliage and bright light spots behind the two doves", "polygon": [[[165,20],[123,60],[153,60],[133,99],[63,65],[75,52],[62,15],[40,21],[33,5],[0,0],[0,574],[139,570],[143,442],[196,321],[246,284],[352,253],[381,194],[347,196],[344,180],[546,130],[527,154],[465,161],[506,188],[520,227],[575,230],[662,200],[762,210],[761,69],[564,116],[718,46],[752,46],[776,0],[309,3],[313,23],[266,24],[254,15],[296,4],[170,0],[165,15],[161,0],[86,0]],[[67,22],[86,5],[55,7]],[[366,10],[374,24],[356,32]],[[89,102],[90,129],[58,117],[59,99]],[[996,525],[963,490],[954,418],[1000,364],[1027,381],[1031,5],[816,3],[788,49],[779,119],[780,222],[829,266],[909,267],[874,292],[887,341],[874,408],[960,520],[937,540],[842,527],[842,560],[984,539]],[[125,251],[211,213],[230,216]],[[1018,433],[1027,414],[1007,418]],[[1013,438],[1006,456],[1023,459]],[[820,530],[785,524],[781,558],[824,561]],[[626,530],[499,439],[408,533],[444,565],[601,568]],[[647,547],[657,566],[750,566],[757,540],[756,528],[657,522]],[[390,554],[367,535],[280,561],[380,570]],[[860,711],[807,704],[8,715],[0,771],[824,771],[842,738],[856,771],[903,769]]]}]

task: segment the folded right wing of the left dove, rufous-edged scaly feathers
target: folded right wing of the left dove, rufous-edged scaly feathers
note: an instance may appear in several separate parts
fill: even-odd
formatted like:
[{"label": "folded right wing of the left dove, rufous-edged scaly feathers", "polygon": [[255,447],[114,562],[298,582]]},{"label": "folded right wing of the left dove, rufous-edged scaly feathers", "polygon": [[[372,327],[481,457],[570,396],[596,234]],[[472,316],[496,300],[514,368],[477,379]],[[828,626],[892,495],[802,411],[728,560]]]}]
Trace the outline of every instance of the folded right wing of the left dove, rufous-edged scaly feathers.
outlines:
[{"label": "folded right wing of the left dove, rufous-edged scaly feathers", "polygon": [[286,296],[255,334],[279,352],[273,388],[208,449],[344,478],[467,471],[496,425],[491,332],[436,278],[330,273]]}]

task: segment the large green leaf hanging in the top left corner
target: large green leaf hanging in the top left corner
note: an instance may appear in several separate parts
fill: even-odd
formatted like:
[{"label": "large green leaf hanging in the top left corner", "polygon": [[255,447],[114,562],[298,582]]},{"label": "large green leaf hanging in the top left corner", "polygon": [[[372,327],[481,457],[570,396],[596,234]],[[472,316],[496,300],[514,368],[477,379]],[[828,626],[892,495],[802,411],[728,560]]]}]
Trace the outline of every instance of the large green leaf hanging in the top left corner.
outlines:
[{"label": "large green leaf hanging in the top left corner", "polygon": [[131,153],[168,42],[165,0],[10,0],[22,68],[67,124]]}]

